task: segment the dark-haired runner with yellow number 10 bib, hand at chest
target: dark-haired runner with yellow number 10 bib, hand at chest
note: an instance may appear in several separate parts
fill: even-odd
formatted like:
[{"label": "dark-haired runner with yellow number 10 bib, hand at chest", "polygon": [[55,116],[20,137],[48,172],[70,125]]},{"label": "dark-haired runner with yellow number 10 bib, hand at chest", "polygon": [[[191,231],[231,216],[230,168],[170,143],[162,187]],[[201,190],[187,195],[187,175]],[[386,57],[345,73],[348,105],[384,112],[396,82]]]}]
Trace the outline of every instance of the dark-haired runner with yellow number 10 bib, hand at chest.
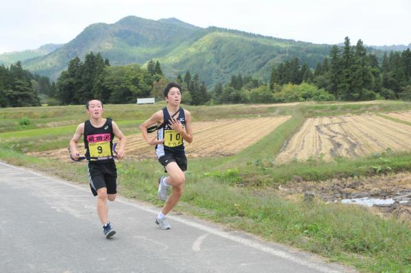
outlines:
[{"label": "dark-haired runner with yellow number 10 bib, hand at chest", "polygon": [[[175,82],[170,82],[164,88],[164,97],[167,105],[154,113],[147,121],[140,125],[142,136],[147,143],[155,145],[158,161],[163,165],[169,176],[162,176],[158,180],[158,198],[166,201],[160,213],[155,217],[155,223],[161,229],[170,229],[166,219],[167,213],[173,209],[182,197],[183,186],[186,180],[187,158],[184,151],[184,142],[192,142],[191,114],[180,107],[182,102],[182,88]],[[152,126],[154,124],[154,126]],[[149,132],[157,130],[157,137],[149,138]],[[167,199],[169,187],[173,193]]]}]

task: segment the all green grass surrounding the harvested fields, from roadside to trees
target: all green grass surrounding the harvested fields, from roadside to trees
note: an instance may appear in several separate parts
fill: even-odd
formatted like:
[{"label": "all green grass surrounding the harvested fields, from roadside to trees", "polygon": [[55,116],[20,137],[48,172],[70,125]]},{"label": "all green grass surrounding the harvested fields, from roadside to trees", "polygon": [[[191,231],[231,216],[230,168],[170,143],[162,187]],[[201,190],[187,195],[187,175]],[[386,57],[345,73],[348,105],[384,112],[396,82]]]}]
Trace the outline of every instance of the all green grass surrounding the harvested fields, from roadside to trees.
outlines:
[{"label": "all green grass surrounding the harvested fields, from roadside to trees", "polygon": [[[147,119],[162,105],[155,106],[105,106],[105,117],[110,115],[123,132],[138,132],[138,124]],[[69,108],[67,106],[66,108]],[[371,176],[397,171],[410,171],[411,154],[391,151],[364,158],[349,160],[336,158],[324,162],[321,158],[284,165],[273,164],[276,154],[302,126],[306,117],[345,115],[348,113],[390,112],[409,110],[411,104],[381,101],[377,104],[314,104],[298,106],[187,106],[195,120],[226,119],[229,117],[257,117],[292,115],[275,131],[247,149],[222,158],[197,158],[188,162],[184,195],[175,211],[190,213],[223,223],[229,227],[260,235],[266,240],[279,241],[303,250],[309,250],[354,266],[362,272],[411,272],[411,224],[395,219],[382,219],[367,209],[355,205],[325,204],[319,199],[312,203],[285,200],[277,195],[276,188],[291,183],[298,175],[303,180],[326,180],[353,176]],[[44,117],[32,119],[38,126],[50,120],[70,117],[76,123],[84,121],[84,106],[50,108],[18,108],[16,111],[0,109],[5,124],[27,117],[27,112]],[[46,122],[47,120],[47,122]],[[397,121],[398,122],[398,121]],[[1,123],[0,123],[1,124]],[[408,124],[409,125],[409,124]],[[66,147],[77,125],[58,128],[21,130],[10,126],[10,132],[0,134],[0,158],[14,165],[32,167],[73,182],[87,183],[84,163],[66,163],[34,158],[21,150],[48,150]],[[33,129],[33,128],[32,128]],[[154,160],[117,163],[119,193],[162,205],[156,197],[155,181],[164,174]]]}]

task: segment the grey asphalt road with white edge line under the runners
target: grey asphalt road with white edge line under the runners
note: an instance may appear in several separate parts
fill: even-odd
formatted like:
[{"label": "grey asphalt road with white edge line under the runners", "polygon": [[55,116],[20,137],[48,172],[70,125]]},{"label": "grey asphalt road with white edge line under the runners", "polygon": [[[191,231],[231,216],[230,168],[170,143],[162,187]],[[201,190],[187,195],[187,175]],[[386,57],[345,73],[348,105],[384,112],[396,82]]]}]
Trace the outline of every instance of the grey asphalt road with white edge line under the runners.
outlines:
[{"label": "grey asphalt road with white edge line under the runners", "polygon": [[[86,170],[85,170],[86,179]],[[87,185],[0,162],[0,272],[355,272],[313,254],[118,198],[103,236]]]}]

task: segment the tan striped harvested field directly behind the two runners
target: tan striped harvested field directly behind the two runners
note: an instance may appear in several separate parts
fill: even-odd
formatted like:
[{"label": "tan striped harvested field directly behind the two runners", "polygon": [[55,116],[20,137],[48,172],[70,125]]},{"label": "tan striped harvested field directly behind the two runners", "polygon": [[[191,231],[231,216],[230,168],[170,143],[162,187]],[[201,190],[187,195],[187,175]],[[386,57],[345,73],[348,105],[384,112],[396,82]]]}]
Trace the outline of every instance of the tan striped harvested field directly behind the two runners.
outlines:
[{"label": "tan striped harvested field directly behind the two runners", "polygon": [[[256,143],[290,117],[262,117],[258,119],[227,119],[192,123],[192,143],[185,143],[189,158],[198,156],[227,156]],[[150,134],[155,137],[155,133]],[[79,153],[84,154],[84,145]],[[154,146],[147,144],[141,133],[127,136],[128,158],[155,158]],[[66,148],[32,153],[32,156],[60,158],[69,161]]]}]

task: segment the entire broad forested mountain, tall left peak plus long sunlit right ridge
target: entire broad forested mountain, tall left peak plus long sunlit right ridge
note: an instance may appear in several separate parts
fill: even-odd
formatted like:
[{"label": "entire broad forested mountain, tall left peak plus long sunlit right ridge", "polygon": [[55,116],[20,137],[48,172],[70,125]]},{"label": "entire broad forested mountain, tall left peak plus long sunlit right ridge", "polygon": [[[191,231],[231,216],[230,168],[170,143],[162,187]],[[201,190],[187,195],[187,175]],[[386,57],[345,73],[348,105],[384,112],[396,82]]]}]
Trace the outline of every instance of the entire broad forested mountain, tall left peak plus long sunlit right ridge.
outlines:
[{"label": "entire broad forested mountain, tall left peak plus long sunlit right ridge", "polygon": [[127,16],[114,24],[89,25],[77,37],[45,56],[23,61],[23,67],[57,79],[75,56],[100,52],[112,65],[159,60],[166,77],[187,70],[208,86],[232,75],[268,80],[273,64],[299,58],[316,67],[331,45],[316,45],[219,27],[196,27],[175,18],[158,21]]}]

